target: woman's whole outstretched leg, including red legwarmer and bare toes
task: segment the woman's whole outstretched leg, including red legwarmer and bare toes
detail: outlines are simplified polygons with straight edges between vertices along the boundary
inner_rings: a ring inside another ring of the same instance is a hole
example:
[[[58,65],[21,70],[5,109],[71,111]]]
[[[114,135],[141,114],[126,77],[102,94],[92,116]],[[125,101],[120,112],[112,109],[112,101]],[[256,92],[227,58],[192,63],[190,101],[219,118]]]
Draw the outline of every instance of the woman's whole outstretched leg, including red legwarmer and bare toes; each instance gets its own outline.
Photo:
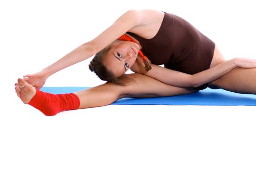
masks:
[[[80,102],[79,106],[77,106],[76,109],[108,105],[123,97],[146,98],[158,96],[173,96],[196,92],[196,90],[194,90],[193,88],[180,88],[166,85],[142,74],[130,74],[129,77],[130,78],[124,78],[123,81],[126,82],[126,85],[124,86],[115,85],[113,83],[106,83],[89,89],[81,90],[79,92],[75,92],[75,97],[78,97]],[[56,110],[51,113],[51,109],[56,109],[56,107],[59,107],[59,105],[61,105],[61,108],[62,106],[63,108],[65,108],[65,104],[70,105],[70,103],[71,105],[74,105],[72,103],[73,99],[76,100],[74,96],[72,98],[72,96],[70,95],[67,96],[68,99],[66,99],[66,97],[65,99],[63,99],[62,96],[60,96],[59,99],[58,95],[46,95],[46,93],[43,93],[41,91],[37,92],[32,85],[29,85],[22,79],[19,79],[18,83],[16,83],[15,86],[18,97],[20,97],[22,102],[28,104],[30,104],[31,101],[34,101],[35,97],[37,97],[36,94],[42,93],[42,96],[40,96],[39,99],[39,102],[42,102],[42,104],[40,104],[39,106],[32,106],[39,109],[41,112],[48,116],[53,116],[58,113]]]

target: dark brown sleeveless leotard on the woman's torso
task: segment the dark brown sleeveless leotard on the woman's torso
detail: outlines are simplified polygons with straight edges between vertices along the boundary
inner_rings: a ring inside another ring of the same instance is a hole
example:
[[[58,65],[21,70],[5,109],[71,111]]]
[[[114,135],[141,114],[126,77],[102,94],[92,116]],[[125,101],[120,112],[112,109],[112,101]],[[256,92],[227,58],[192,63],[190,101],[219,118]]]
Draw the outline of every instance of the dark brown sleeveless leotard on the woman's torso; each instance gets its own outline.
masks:
[[[139,41],[141,51],[153,64],[188,74],[210,68],[215,43],[181,17],[165,13],[158,33],[151,39],[127,34]]]

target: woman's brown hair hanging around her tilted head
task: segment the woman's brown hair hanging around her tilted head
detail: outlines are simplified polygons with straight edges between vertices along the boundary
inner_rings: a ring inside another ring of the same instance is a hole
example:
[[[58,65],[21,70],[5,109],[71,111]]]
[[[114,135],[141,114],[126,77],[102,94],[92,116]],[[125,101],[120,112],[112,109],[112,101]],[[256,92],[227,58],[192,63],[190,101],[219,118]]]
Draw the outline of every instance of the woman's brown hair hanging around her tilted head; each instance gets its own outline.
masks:
[[[91,71],[94,71],[95,74],[100,78],[100,80],[112,82],[116,85],[124,85],[124,82],[121,80],[123,77],[126,77],[125,74],[116,77],[112,71],[110,71],[104,64],[103,59],[105,55],[110,51],[112,48],[112,45],[107,46],[103,50],[99,51],[95,54],[94,58],[89,64],[89,68]],[[151,69],[151,66],[147,60],[144,60],[145,63],[145,70],[149,71]]]

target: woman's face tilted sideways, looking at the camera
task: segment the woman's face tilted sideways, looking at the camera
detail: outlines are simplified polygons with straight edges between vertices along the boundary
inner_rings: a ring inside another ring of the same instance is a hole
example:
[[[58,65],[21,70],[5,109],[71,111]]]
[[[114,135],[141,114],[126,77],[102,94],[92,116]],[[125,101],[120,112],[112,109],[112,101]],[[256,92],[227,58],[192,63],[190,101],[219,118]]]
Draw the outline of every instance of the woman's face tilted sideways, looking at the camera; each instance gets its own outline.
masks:
[[[114,42],[112,48],[105,56],[105,66],[119,77],[130,69],[138,56],[139,46],[130,41]]]

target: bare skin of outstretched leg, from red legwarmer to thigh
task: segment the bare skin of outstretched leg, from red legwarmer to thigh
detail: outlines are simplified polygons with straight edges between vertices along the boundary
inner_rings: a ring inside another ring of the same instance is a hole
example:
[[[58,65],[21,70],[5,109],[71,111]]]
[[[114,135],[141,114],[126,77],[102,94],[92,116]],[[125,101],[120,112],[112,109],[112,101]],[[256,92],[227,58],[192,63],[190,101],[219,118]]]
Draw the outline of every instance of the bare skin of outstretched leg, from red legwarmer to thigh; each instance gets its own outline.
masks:
[[[166,85],[142,74],[129,74],[129,76],[130,78],[125,78],[124,86],[106,83],[76,92],[80,99],[79,108],[104,106],[124,97],[163,97],[197,92],[193,88]]]

